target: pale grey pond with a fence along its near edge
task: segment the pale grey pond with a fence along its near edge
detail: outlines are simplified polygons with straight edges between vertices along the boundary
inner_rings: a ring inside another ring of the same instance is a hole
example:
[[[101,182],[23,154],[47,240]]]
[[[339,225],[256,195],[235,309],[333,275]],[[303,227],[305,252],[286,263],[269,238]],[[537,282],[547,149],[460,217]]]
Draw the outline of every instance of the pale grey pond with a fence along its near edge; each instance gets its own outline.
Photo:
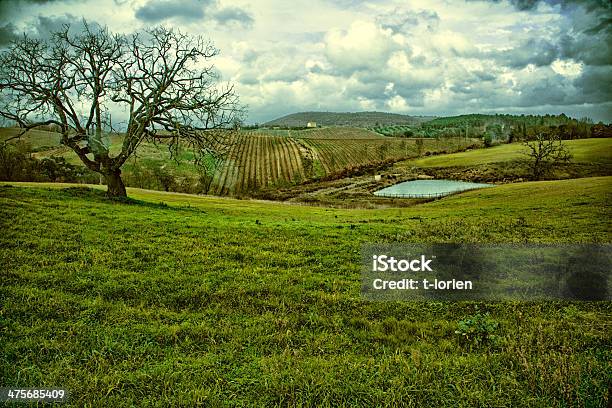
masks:
[[[469,183],[455,180],[412,180],[374,192],[378,197],[437,198],[459,191],[494,187],[493,184]]]

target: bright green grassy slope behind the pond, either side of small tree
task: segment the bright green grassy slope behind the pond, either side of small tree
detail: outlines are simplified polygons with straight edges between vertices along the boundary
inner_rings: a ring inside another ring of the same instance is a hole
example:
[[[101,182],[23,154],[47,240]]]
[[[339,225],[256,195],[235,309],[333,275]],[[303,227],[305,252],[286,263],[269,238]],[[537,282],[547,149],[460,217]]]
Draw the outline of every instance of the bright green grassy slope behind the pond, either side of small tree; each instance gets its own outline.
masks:
[[[612,139],[579,139],[564,141],[578,163],[612,163]],[[525,159],[522,143],[504,144],[488,149],[425,157],[406,162],[418,167],[477,166]]]

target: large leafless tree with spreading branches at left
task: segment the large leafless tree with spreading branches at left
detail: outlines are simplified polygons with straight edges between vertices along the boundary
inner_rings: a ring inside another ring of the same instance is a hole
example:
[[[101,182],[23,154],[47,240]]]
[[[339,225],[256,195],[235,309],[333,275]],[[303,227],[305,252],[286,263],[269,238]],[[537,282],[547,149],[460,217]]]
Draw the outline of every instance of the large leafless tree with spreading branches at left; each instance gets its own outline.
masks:
[[[219,86],[207,65],[218,54],[210,42],[167,28],[125,36],[83,25],[47,41],[24,35],[0,56],[0,115],[23,129],[16,137],[56,125],[111,197],[126,196],[121,167],[143,141],[175,159],[183,147],[196,163],[223,157],[243,111],[233,86]],[[123,141],[111,155],[103,130],[115,131],[110,113],[121,108]]]

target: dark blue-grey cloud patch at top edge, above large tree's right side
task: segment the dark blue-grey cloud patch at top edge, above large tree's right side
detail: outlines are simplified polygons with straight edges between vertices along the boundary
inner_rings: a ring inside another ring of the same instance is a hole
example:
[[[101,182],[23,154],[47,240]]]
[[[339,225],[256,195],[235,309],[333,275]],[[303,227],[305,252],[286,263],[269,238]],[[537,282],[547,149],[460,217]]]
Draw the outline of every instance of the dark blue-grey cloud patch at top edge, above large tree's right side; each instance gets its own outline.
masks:
[[[149,0],[136,10],[136,18],[149,23],[157,23],[168,18],[178,18],[184,21],[201,20],[204,18],[204,7],[209,0]]]

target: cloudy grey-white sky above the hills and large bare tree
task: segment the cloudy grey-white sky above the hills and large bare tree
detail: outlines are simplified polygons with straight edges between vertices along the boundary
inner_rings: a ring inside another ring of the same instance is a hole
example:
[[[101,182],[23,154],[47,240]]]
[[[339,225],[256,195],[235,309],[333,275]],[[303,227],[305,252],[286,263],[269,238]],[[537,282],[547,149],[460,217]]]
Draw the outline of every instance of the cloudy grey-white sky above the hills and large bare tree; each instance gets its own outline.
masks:
[[[83,17],[206,36],[249,123],[306,110],[612,122],[606,0],[0,0],[0,13],[0,47]]]

